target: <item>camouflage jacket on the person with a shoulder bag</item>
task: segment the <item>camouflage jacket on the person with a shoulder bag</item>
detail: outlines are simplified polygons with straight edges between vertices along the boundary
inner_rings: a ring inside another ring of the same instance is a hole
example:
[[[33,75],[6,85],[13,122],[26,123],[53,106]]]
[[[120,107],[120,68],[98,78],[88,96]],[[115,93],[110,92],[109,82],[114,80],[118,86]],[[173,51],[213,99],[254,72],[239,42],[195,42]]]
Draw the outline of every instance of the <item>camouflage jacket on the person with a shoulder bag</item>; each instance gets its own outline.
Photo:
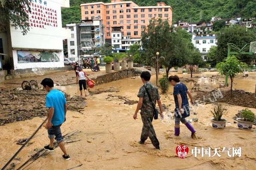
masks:
[[[150,104],[150,100],[148,97],[148,94],[145,91],[145,88],[147,88],[148,93],[151,95],[151,99],[153,100],[153,102],[156,104],[157,100],[160,99],[159,93],[158,93],[158,89],[156,86],[152,85],[150,82],[146,82],[141,88],[140,91],[138,93],[138,97],[143,97],[143,104],[141,107],[141,111],[140,114],[147,114],[148,116],[152,116],[153,115],[153,107]]]

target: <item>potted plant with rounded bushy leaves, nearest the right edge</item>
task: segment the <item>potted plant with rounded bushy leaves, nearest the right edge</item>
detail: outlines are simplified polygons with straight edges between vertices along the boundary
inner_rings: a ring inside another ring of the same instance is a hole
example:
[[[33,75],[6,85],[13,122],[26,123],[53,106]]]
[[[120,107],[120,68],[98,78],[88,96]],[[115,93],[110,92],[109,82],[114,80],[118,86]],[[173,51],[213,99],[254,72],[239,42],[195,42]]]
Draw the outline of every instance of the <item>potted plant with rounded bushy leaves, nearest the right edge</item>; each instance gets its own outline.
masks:
[[[237,119],[239,129],[252,129],[255,115],[249,109],[241,111],[241,119]]]

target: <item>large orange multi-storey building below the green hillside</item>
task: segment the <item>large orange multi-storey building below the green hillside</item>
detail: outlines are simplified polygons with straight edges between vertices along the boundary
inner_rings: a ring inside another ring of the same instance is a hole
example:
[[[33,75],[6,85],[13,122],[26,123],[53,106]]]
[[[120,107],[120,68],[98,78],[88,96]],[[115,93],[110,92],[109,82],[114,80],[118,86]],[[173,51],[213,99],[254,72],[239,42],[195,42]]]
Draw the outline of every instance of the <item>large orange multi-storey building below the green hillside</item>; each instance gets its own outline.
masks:
[[[165,3],[157,3],[157,6],[138,6],[132,1],[111,0],[111,3],[84,3],[80,6],[82,20],[102,20],[105,39],[111,42],[115,49],[127,49],[127,46],[122,45],[120,41],[113,42],[113,33],[121,33],[121,37],[128,36],[129,39],[137,40],[153,17],[168,19],[172,24],[172,8]]]

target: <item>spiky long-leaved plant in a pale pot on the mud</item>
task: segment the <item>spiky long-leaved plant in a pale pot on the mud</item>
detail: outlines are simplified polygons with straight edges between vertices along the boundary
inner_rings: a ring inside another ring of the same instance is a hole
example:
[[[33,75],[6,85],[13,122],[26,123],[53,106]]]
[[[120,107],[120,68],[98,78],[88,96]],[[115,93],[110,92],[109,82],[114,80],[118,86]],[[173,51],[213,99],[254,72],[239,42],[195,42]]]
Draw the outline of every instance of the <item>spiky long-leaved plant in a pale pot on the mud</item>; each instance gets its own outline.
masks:
[[[226,119],[221,119],[223,112],[224,112],[224,108],[222,105],[217,105],[212,112],[212,116],[213,118],[212,120],[212,127],[214,128],[221,128],[223,129],[224,127],[226,127]]]

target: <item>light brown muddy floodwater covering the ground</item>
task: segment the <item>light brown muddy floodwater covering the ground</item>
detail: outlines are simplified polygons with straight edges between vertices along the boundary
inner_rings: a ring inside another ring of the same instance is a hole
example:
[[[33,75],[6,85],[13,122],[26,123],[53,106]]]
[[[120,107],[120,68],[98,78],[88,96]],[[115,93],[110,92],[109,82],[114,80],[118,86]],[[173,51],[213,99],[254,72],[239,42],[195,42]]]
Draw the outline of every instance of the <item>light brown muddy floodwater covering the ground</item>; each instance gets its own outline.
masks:
[[[207,77],[216,75],[216,73],[195,74],[200,76],[196,81],[201,88],[213,89],[224,84],[224,77],[220,77],[218,82],[210,81]],[[189,78],[190,75],[180,75],[180,77]],[[152,76],[151,82],[155,83],[155,76]],[[192,82],[185,82],[189,89],[192,88]],[[249,77],[239,75],[234,79],[234,87],[244,91],[254,93],[256,84],[256,74],[250,73]],[[140,77],[122,79],[116,82],[110,82],[97,85],[93,90],[116,88],[119,92],[102,93],[93,96],[87,96],[87,107],[84,111],[67,112],[67,121],[61,126],[62,134],[78,130],[72,140],[66,144],[71,159],[64,160],[60,148],[47,156],[40,157],[35,162],[25,168],[29,170],[67,170],[82,164],[76,169],[81,170],[255,170],[256,169],[256,148],[254,147],[256,139],[256,129],[239,130],[237,123],[234,123],[233,117],[239,110],[244,109],[241,106],[225,105],[227,109],[223,118],[227,119],[224,129],[213,129],[210,119],[212,118],[211,109],[214,104],[201,106],[191,112],[188,119],[198,118],[197,122],[192,121],[192,125],[197,131],[197,138],[191,139],[190,131],[185,125],[180,125],[180,136],[174,136],[174,120],[161,122],[160,119],[154,120],[153,125],[160,142],[161,150],[156,150],[148,139],[144,145],[140,141],[142,121],[140,114],[138,119],[133,119],[136,104],[127,105],[123,100],[109,100],[108,95],[126,96],[131,100],[138,100],[137,93],[142,86]],[[67,85],[58,87],[70,95],[78,95],[77,85]],[[159,90],[160,91],[160,90]],[[194,94],[194,92],[193,92]],[[171,114],[174,110],[174,99],[172,96],[172,87],[167,94],[160,94],[162,103],[166,106],[165,116]],[[193,108],[193,107],[192,107]],[[255,108],[250,108],[256,113]],[[167,116],[168,117],[168,116]],[[11,158],[18,150],[20,145],[16,144],[18,139],[28,138],[35,129],[44,121],[45,117],[36,117],[31,120],[9,123],[0,126],[0,167]],[[30,155],[34,154],[35,149],[41,149],[48,144],[47,130],[41,128],[35,137],[29,142],[13,162],[19,167]],[[175,149],[177,145],[186,145],[189,147],[188,156],[185,159],[177,157]],[[200,148],[219,148],[241,147],[241,157],[229,157],[227,152],[221,152],[221,156],[202,156],[198,154],[195,157],[191,149]]]

